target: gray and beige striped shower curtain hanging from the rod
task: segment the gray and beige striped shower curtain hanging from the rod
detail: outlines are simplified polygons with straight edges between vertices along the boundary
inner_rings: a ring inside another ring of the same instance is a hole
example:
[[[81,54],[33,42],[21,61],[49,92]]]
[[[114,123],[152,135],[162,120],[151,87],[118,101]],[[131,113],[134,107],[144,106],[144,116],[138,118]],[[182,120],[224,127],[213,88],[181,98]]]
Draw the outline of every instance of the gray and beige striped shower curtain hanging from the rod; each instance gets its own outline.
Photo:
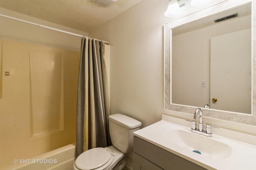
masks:
[[[76,156],[111,145],[104,43],[82,38],[76,113]]]

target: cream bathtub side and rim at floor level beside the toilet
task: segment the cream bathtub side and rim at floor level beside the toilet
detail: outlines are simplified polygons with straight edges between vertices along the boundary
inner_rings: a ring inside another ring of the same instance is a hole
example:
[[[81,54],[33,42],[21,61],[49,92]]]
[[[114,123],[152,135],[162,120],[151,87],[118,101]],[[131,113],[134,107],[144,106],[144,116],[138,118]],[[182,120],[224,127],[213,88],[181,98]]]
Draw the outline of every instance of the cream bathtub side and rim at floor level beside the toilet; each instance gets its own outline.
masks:
[[[72,170],[76,144],[46,152],[26,160],[14,160],[14,164],[4,170]]]

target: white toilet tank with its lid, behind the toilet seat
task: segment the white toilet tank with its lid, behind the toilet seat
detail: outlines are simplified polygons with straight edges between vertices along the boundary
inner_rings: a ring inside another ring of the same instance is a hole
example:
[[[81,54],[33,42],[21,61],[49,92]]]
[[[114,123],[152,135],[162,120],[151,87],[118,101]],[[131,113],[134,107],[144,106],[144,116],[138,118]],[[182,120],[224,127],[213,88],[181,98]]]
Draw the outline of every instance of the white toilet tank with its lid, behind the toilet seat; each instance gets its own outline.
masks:
[[[122,114],[108,117],[112,145],[123,153],[128,153],[133,147],[133,132],[138,131],[141,122]]]

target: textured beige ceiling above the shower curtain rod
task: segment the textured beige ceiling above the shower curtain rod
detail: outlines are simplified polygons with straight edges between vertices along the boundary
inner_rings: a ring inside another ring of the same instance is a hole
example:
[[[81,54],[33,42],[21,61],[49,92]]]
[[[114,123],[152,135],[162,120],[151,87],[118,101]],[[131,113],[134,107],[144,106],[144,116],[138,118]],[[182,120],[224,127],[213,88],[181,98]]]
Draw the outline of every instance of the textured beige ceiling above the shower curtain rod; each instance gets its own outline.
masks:
[[[0,7],[90,32],[142,0],[118,0],[103,7],[93,0],[0,0]]]

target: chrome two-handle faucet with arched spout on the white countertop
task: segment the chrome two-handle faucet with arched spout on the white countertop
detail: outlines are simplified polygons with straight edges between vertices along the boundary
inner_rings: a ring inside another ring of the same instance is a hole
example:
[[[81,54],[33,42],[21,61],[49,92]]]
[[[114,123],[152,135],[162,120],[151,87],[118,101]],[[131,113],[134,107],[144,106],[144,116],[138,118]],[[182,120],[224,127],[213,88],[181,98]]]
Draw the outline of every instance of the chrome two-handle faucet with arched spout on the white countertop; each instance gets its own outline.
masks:
[[[198,129],[196,129],[196,121],[192,121],[192,128],[191,131],[194,133],[198,133],[200,135],[212,137],[212,132],[211,132],[211,125],[206,124],[206,131],[203,130],[203,111],[200,108],[197,108],[195,113],[194,113],[194,119],[197,118],[199,114],[199,123],[198,123]]]

